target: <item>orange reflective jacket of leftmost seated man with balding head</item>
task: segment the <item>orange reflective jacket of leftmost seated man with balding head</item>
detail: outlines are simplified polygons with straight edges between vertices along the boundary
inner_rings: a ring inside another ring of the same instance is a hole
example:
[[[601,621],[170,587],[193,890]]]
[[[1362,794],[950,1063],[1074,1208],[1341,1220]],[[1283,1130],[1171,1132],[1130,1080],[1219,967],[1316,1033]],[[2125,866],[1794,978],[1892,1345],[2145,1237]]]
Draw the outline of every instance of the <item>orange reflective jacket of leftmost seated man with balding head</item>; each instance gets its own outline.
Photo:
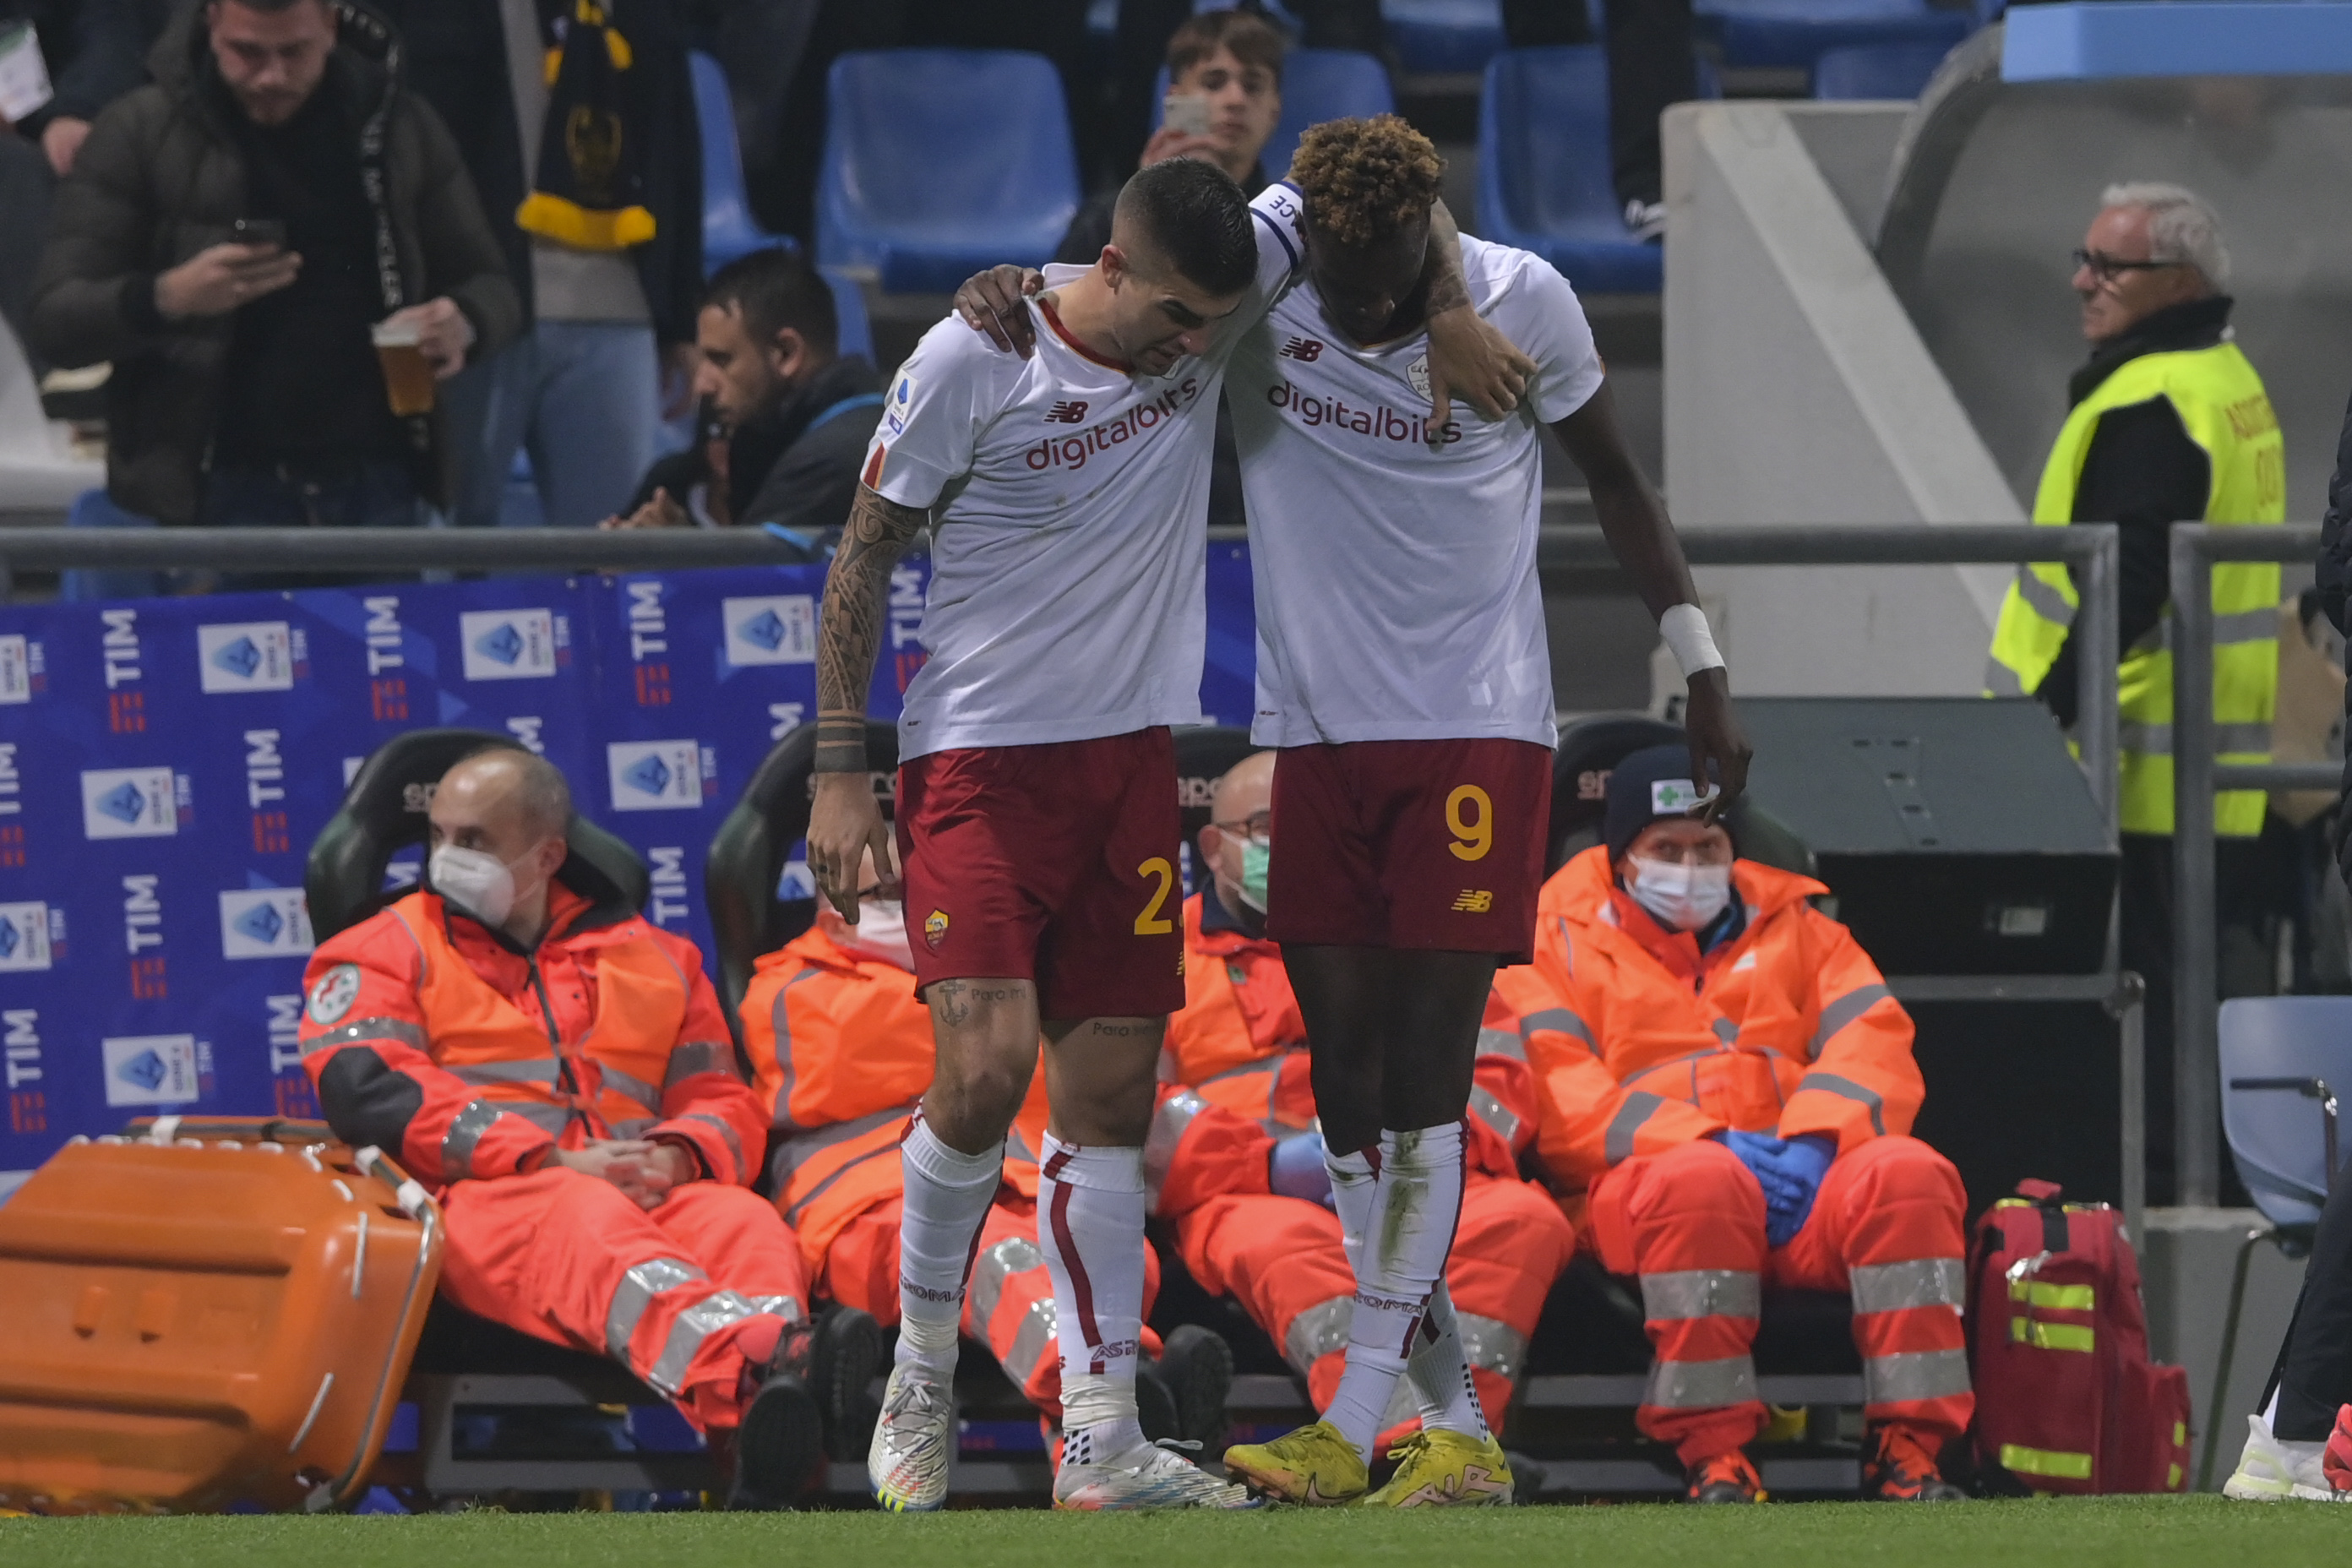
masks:
[[[536,952],[409,893],[310,954],[303,1067],[336,1135],[419,1180],[659,1138],[750,1185],[767,1138],[694,943],[555,884]]]

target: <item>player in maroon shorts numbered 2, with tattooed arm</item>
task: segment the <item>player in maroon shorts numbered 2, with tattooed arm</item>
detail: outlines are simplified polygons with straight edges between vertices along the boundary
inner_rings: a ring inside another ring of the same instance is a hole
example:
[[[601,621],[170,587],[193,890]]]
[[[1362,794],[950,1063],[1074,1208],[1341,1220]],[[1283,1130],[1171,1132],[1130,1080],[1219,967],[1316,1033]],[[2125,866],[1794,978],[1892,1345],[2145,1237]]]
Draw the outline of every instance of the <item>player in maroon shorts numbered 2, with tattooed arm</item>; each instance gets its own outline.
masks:
[[[1065,1509],[1247,1507],[1143,1439],[1143,1138],[1183,1006],[1171,724],[1200,722],[1204,515],[1218,388],[1296,280],[1289,188],[1221,169],[1136,174],[1091,268],[1007,310],[1037,355],[934,327],[868,449],[818,630],[809,870],[858,919],[858,865],[903,898],[936,1074],[898,1145],[901,1333],[868,1474],[889,1509],[946,1500],[950,1382],[974,1241],[1040,1058],[1049,1124],[1037,1244],[1061,1340]],[[1432,247],[1432,287],[1458,263]],[[1002,322],[997,322],[1002,331]],[[1489,395],[1512,350],[1472,310],[1435,324],[1437,376]],[[866,759],[866,689],[898,552],[934,527],[898,722],[896,842]]]

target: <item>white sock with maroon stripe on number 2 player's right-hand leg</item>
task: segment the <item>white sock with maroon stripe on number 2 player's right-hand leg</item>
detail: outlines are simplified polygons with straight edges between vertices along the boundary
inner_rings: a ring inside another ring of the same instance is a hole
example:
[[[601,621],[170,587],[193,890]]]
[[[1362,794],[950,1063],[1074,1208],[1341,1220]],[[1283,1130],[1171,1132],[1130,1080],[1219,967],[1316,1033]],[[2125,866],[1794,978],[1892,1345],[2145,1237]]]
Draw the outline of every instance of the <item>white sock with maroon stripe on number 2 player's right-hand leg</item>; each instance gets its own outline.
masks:
[[[1143,1441],[1143,1150],[1080,1147],[1047,1133],[1037,1248],[1054,1276],[1063,1465],[1117,1458]]]

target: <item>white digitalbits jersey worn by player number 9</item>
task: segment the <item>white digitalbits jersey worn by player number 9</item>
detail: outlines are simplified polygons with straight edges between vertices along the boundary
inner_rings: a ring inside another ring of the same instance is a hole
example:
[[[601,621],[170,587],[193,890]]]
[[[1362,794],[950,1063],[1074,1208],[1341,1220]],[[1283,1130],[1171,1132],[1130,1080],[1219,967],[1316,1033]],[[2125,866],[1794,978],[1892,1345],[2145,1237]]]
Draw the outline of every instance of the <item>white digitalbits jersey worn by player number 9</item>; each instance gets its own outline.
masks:
[[[1456,397],[1435,451],[1425,331],[1357,348],[1301,282],[1235,350],[1258,745],[1559,738],[1536,423],[1581,409],[1602,360],[1576,292],[1541,256],[1463,237],[1463,280],[1536,381],[1501,421]]]

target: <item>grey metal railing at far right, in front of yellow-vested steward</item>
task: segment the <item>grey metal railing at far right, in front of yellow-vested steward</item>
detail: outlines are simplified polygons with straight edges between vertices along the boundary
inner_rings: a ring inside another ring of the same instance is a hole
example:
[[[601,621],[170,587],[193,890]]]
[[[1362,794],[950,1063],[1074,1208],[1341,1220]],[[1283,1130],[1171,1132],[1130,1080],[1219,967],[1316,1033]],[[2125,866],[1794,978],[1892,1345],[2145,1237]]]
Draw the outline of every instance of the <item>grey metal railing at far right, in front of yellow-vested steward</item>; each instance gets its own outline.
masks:
[[[2213,889],[2218,790],[2343,788],[2340,762],[2220,762],[2213,726],[2213,567],[2310,562],[2307,524],[2176,524],[2173,590],[2173,1168],[2180,1201],[2220,1201],[2220,940]],[[2267,750],[2267,748],[2265,748]]]

